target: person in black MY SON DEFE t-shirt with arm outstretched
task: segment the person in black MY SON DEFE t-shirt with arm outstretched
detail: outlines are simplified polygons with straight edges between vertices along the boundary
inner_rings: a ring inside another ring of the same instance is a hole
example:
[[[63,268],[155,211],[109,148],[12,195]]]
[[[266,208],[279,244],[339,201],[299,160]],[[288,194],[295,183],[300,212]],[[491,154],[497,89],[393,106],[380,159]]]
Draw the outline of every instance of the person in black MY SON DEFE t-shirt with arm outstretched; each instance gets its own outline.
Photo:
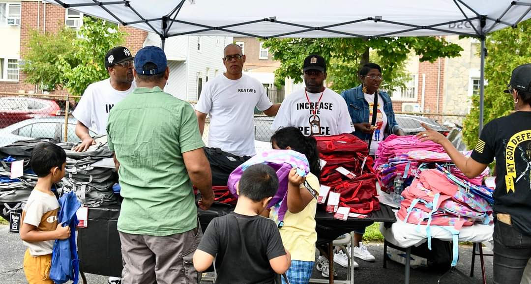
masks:
[[[516,111],[485,125],[470,158],[425,125],[417,136],[441,144],[468,177],[496,160],[494,283],[518,284],[531,259],[531,64],[516,67],[508,87]]]

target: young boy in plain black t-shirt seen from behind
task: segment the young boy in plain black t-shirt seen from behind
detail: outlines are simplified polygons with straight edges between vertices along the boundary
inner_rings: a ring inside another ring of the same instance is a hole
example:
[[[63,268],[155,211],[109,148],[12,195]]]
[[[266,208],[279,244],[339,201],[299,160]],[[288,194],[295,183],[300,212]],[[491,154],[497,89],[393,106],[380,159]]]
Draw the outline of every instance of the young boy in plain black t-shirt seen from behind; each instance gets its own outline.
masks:
[[[285,273],[291,256],[275,222],[260,216],[277,189],[271,167],[247,168],[234,212],[210,222],[193,256],[195,269],[207,270],[216,258],[216,283],[274,283],[276,273]]]

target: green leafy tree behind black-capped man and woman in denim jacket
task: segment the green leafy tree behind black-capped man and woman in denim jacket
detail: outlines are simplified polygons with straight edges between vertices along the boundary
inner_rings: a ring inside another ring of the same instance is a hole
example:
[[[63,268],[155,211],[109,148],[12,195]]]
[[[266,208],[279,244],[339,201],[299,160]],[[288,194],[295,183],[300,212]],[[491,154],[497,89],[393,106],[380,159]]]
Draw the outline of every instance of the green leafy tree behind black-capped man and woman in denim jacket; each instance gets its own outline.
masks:
[[[421,62],[434,62],[439,57],[459,56],[463,49],[444,38],[435,37],[395,37],[395,38],[288,38],[264,41],[273,54],[273,59],[281,62],[275,72],[277,85],[284,84],[284,78],[301,82],[304,58],[310,54],[320,54],[327,61],[328,81],[337,92],[358,84],[357,71],[361,62],[369,60],[372,50],[375,62],[382,66],[384,83],[382,88],[393,90],[404,85],[407,72],[404,63],[412,51],[421,56]]]

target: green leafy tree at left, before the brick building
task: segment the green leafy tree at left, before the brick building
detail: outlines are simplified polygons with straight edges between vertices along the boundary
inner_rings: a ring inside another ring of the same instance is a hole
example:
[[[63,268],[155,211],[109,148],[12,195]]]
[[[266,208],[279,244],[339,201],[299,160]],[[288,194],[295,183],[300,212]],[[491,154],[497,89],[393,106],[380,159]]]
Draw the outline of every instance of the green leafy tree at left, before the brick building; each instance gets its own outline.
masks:
[[[89,84],[108,78],[105,54],[120,45],[124,35],[116,24],[88,16],[77,33],[69,28],[44,35],[33,31],[23,56],[27,81],[81,95]]]

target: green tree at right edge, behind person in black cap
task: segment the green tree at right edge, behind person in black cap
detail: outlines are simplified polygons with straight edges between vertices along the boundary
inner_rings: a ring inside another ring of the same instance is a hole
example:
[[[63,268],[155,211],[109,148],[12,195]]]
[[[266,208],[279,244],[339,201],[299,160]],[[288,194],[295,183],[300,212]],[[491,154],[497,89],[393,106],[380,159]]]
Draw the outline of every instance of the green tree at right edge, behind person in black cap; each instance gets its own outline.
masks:
[[[502,29],[491,33],[485,47],[484,123],[514,110],[512,97],[504,93],[511,80],[511,71],[518,65],[531,62],[531,21],[518,24],[514,29]],[[463,137],[467,147],[475,147],[479,133],[479,94],[472,96],[472,109],[463,123]]]

